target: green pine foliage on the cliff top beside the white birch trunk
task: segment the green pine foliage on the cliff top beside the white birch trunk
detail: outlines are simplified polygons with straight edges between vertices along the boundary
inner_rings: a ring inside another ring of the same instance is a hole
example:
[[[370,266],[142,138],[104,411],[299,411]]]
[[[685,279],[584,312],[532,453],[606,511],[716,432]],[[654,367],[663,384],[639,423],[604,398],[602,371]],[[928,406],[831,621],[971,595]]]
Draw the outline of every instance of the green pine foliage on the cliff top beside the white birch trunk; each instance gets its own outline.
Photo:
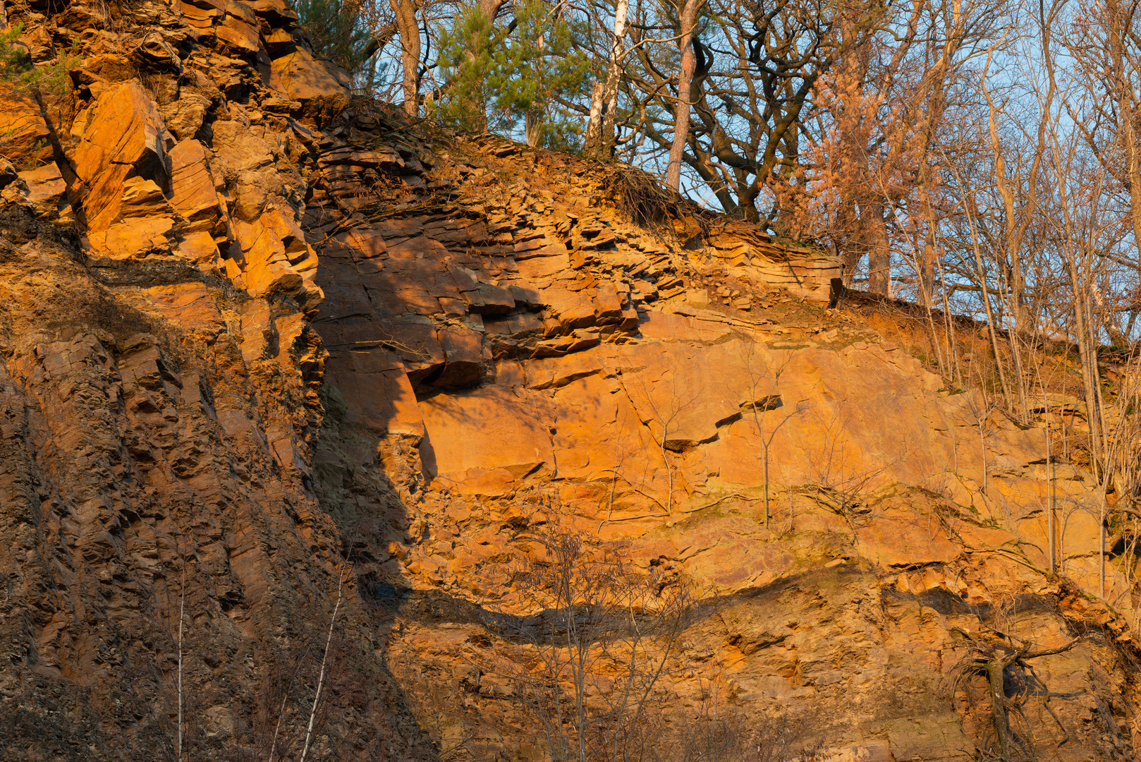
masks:
[[[544,0],[527,0],[510,26],[470,6],[440,33],[443,97],[432,115],[466,129],[521,133],[531,145],[575,149],[581,128],[560,102],[586,87],[589,62],[577,24]],[[432,106],[430,106],[432,107]]]

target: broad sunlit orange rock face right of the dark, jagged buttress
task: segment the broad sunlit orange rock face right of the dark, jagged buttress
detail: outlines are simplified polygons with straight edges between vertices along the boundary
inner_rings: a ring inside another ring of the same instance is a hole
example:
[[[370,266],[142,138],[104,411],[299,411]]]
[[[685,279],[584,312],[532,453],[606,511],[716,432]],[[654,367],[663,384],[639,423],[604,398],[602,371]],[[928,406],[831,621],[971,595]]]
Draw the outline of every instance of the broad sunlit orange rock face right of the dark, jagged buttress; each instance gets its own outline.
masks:
[[[955,631],[1012,627],[1057,647],[1097,621],[1103,634],[1035,665],[1067,698],[1028,701],[1020,721],[1054,745],[1059,728],[1087,732],[1059,759],[1125,738],[1077,729],[1099,706],[1134,711],[1131,583],[1109,570],[1117,612],[1079,592],[1098,588],[1095,526],[1061,540],[1069,579],[1045,573],[1042,428],[992,417],[980,439],[977,392],[952,393],[858,319],[774,289],[761,268],[637,228],[569,160],[536,157],[531,170],[518,149],[460,138],[436,151],[446,159],[432,157],[424,186],[451,206],[434,216],[398,216],[424,198],[411,192],[343,203],[337,219],[309,212],[330,235],[314,324],[345,400],[339,431],[381,452],[418,446],[400,492],[412,539],[359,570],[412,599],[521,615],[513,560],[543,531],[621,546],[721,596],[662,679],[671,727],[715,688],[753,725],[791,715],[836,760],[969,759],[989,731],[972,698],[981,683],[956,682],[970,649]],[[505,190],[483,190],[470,169],[482,166]],[[489,313],[484,284],[515,304]],[[456,348],[454,336],[470,338]],[[351,468],[335,447],[317,457]],[[1063,470],[1055,499],[1089,522],[1093,480]],[[375,511],[364,490],[335,495],[354,515]],[[488,633],[486,617],[403,610],[389,657],[413,703],[462,728],[474,759],[536,753],[503,666],[534,663],[534,649]],[[1090,677],[1102,674],[1118,676]]]

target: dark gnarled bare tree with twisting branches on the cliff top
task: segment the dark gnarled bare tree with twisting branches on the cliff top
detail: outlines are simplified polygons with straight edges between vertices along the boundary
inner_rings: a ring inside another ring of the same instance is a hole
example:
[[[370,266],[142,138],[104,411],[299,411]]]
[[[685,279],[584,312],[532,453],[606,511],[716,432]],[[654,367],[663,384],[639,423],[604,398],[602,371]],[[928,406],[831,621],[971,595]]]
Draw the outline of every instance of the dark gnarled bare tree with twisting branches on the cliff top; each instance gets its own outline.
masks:
[[[648,146],[667,154],[680,149],[677,138],[685,135],[679,173],[683,163],[726,212],[759,222],[763,217],[758,204],[774,173],[787,176],[796,168],[801,118],[817,78],[835,59],[842,11],[818,0],[780,0],[766,7],[709,0],[707,8],[707,22],[695,25],[689,45],[694,75],[687,99],[693,119],[689,110],[678,112],[686,94],[671,96],[673,78],[662,71],[655,46],[645,45],[663,26],[631,27],[638,46],[638,65],[630,67],[624,82],[636,104],[631,128]],[[686,30],[677,32],[683,35]],[[687,120],[685,130],[675,123],[677,113]]]

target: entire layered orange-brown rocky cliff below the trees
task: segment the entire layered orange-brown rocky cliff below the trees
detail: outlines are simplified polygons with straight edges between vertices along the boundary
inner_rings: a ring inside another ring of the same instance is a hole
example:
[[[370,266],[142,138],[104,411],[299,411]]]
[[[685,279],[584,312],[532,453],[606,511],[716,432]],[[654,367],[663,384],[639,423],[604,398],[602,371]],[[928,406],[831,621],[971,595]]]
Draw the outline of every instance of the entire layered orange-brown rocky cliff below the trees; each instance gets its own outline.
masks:
[[[355,102],[282,0],[7,10],[81,59],[0,96],[42,162],[0,175],[6,759],[296,759],[318,680],[314,759],[543,759],[494,621],[552,528],[704,596],[663,737],[715,695],[971,759],[963,666],[1081,636],[1009,671],[1017,732],[1133,759],[1093,479],[827,308],[826,257]]]

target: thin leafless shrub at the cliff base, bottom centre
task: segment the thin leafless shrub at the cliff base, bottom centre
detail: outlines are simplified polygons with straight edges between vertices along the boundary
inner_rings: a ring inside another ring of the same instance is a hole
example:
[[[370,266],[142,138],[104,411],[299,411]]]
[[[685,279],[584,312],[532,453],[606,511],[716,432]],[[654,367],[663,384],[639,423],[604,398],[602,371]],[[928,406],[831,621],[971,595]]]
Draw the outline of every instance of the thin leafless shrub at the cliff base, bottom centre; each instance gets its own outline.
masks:
[[[690,586],[647,576],[566,530],[535,540],[545,555],[516,579],[536,612],[502,625],[502,634],[529,644],[534,663],[502,676],[552,760],[631,759],[694,616]]]

